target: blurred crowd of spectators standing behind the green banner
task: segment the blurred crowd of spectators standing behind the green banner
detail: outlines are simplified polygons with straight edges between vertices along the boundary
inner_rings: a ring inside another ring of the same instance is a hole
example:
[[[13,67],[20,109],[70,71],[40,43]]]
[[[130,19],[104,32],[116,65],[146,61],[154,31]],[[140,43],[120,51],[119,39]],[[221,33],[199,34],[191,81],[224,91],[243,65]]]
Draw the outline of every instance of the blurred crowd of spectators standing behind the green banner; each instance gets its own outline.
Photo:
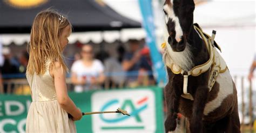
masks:
[[[80,51],[74,54],[70,65],[70,89],[79,93],[103,88],[155,84],[149,48],[140,41],[129,40],[129,48],[125,49],[120,45],[116,52],[118,57],[111,56],[110,51],[104,50],[96,54],[93,45],[83,45]],[[22,51],[17,57],[13,57],[11,49],[4,47],[2,58],[1,83],[6,93],[5,80],[25,78],[29,54]],[[11,89],[15,89],[14,85],[11,85]]]

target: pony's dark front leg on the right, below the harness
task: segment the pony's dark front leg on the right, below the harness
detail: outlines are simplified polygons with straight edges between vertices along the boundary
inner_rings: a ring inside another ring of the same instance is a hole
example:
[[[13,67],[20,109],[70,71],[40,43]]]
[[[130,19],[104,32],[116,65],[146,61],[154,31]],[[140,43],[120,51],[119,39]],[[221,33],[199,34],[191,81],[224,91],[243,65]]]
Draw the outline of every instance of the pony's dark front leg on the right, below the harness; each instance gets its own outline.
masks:
[[[199,86],[194,97],[194,104],[192,109],[192,116],[190,119],[190,132],[199,133],[203,132],[203,113],[208,98],[208,87]]]

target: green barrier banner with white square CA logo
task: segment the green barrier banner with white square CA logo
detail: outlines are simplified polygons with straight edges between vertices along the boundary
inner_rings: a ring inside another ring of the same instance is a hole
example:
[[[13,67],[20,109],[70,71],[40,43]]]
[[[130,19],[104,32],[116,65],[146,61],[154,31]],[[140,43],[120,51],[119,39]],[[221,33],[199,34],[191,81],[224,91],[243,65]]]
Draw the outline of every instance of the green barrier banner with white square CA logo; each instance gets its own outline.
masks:
[[[127,110],[122,114],[85,115],[77,132],[164,132],[163,90],[159,87],[119,88],[69,95],[82,112]],[[0,132],[24,132],[30,95],[0,95]]]

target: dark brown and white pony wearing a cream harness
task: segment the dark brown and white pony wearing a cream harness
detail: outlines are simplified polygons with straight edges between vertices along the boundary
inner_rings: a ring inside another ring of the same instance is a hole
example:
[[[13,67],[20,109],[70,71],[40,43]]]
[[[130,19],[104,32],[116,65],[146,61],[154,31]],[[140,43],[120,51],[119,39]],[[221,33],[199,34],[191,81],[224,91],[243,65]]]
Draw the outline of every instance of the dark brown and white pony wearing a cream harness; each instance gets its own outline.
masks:
[[[213,36],[193,24],[193,0],[166,0],[166,38],[163,60],[165,131],[177,127],[177,113],[186,117],[187,132],[240,132],[237,91],[219,55]]]

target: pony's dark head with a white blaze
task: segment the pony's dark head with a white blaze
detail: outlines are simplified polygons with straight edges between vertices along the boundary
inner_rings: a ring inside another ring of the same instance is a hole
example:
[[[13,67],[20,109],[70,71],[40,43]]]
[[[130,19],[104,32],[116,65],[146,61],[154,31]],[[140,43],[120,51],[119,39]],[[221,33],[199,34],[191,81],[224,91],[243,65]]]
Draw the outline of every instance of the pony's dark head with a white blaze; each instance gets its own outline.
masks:
[[[193,0],[166,0],[164,3],[167,42],[173,51],[186,48],[188,35],[193,26]]]

